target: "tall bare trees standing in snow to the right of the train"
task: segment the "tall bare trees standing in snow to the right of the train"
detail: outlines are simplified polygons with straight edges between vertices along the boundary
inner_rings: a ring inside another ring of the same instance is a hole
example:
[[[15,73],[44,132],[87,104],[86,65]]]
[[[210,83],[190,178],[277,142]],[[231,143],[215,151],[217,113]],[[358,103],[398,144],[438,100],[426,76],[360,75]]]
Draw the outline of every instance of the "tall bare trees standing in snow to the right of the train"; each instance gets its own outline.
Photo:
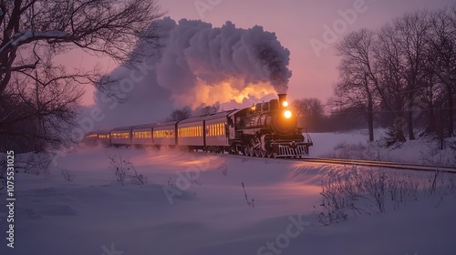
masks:
[[[370,141],[375,123],[388,127],[387,145],[455,136],[456,5],[360,29],[336,48],[341,61],[330,106],[363,112]]]

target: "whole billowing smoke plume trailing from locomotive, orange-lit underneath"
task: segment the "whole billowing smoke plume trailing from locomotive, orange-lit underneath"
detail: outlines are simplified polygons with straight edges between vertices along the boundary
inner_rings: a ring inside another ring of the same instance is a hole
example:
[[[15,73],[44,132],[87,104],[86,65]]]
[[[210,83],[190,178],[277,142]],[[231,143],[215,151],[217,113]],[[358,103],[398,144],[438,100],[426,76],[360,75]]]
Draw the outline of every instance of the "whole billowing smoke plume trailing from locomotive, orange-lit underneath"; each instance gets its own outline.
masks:
[[[108,119],[131,117],[134,112],[142,115],[138,123],[145,123],[163,119],[175,107],[241,103],[286,93],[292,75],[287,67],[290,52],[262,26],[243,29],[227,21],[222,27],[212,27],[200,20],[176,23],[170,17],[158,26],[162,47],[150,48],[153,56],[146,59],[153,67],[128,93],[128,102],[104,110]],[[111,75],[129,76],[130,72],[119,67]],[[107,109],[102,94],[97,92],[95,97],[96,105]]]

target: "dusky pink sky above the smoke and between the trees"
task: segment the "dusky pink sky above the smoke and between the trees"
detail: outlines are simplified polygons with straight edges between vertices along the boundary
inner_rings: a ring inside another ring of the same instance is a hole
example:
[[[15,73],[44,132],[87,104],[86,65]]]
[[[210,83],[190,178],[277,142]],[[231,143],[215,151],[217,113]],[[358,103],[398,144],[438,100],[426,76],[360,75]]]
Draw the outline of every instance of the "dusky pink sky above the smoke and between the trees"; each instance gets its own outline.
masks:
[[[159,1],[162,9],[168,11],[167,15],[175,20],[202,19],[213,26],[222,26],[230,20],[237,27],[259,25],[266,31],[275,32],[281,44],[291,52],[289,68],[293,71],[293,76],[289,83],[289,99],[317,97],[324,103],[332,96],[332,87],[337,82],[339,58],[336,56],[333,41],[363,27],[377,29],[392,18],[407,12],[423,8],[436,9],[453,3],[454,0]],[[344,20],[341,13],[347,14],[348,19]],[[336,26],[336,29],[333,29],[333,26]],[[330,32],[327,32],[327,27],[331,27],[334,33],[332,38],[328,37]],[[328,37],[326,40],[325,36]],[[327,48],[315,50],[311,42],[325,43]],[[112,61],[93,56],[78,56],[76,53],[70,56],[72,65],[97,61],[107,70],[115,66]],[[93,102],[93,88],[86,89],[84,104],[89,105]]]

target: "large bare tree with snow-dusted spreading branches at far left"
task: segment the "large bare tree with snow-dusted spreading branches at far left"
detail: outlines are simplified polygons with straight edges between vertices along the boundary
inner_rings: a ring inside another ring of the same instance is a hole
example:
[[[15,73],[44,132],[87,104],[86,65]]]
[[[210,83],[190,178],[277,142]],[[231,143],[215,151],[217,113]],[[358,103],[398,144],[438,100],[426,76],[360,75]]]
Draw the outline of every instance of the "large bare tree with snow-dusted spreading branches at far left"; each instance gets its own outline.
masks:
[[[154,21],[162,15],[154,0],[0,1],[2,140],[38,139],[41,149],[68,141],[63,136],[74,124],[78,85],[109,92],[112,81],[100,79],[98,66],[68,72],[55,56],[79,48],[132,66],[145,54],[131,52],[133,46],[158,46]]]

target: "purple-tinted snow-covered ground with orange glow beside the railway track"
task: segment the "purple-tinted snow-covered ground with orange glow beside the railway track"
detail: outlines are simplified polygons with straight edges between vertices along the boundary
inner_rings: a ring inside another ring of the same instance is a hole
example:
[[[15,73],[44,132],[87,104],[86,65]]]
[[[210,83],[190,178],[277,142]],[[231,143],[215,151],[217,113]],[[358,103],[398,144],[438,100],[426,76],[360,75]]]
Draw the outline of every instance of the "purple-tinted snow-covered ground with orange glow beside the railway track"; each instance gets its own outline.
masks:
[[[366,140],[363,133],[313,138],[311,157],[332,153],[345,140]],[[147,184],[122,186],[108,156],[133,163]],[[3,206],[0,254],[456,254],[454,193],[426,196],[423,190],[397,207],[387,204],[384,213],[370,208],[369,215],[348,213],[347,220],[322,224],[322,177],[335,169],[344,167],[80,148],[59,158],[47,177],[16,174],[15,248],[6,247]],[[432,177],[401,174],[423,182]]]

